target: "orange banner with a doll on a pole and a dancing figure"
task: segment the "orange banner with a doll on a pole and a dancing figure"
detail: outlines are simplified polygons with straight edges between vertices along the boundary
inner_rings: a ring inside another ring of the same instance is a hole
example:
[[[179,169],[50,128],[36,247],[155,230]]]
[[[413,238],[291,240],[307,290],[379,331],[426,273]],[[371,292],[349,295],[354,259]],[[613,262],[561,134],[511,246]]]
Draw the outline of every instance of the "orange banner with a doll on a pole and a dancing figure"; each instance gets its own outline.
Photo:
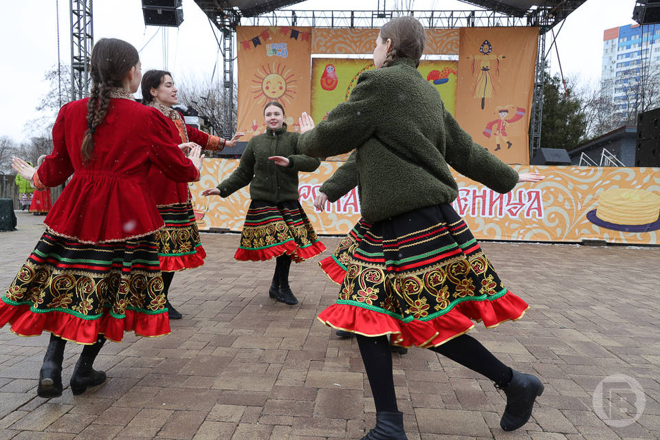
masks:
[[[529,164],[538,28],[461,28],[456,120],[507,164]]]

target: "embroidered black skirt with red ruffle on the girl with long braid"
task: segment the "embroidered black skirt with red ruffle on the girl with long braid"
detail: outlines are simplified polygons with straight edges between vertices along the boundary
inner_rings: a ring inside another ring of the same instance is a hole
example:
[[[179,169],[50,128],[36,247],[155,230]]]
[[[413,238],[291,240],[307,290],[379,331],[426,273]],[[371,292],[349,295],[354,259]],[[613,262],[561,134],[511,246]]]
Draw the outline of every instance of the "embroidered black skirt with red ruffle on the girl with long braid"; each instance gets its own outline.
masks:
[[[90,244],[47,230],[0,300],[7,323],[21,336],[50,331],[81,344],[170,333],[153,234]]]

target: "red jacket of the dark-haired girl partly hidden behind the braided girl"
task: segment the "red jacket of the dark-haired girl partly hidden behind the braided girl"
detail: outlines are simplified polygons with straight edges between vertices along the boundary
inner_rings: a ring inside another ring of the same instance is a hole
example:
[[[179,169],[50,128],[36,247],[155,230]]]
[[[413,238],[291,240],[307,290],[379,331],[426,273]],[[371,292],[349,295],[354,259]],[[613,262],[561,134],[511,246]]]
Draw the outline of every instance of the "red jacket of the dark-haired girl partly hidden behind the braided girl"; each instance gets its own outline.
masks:
[[[165,118],[167,117],[165,116]],[[205,150],[221,150],[224,147],[224,143],[219,137],[204,133],[195,129],[195,127],[185,124],[183,115],[181,115],[180,120],[171,121],[173,122],[173,130],[177,133],[177,142],[179,143],[195,142],[195,144],[201,145],[201,148]],[[169,179],[159,168],[152,167],[149,170],[148,182],[157,206],[186,203],[190,199],[188,184]]]

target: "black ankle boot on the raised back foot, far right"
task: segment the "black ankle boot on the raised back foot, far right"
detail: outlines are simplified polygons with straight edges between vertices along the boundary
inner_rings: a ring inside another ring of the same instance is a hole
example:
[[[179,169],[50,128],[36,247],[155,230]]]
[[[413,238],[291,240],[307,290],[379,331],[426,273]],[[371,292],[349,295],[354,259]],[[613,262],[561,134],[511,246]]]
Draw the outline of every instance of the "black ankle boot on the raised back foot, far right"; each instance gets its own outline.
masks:
[[[538,377],[513,371],[511,382],[501,388],[507,395],[507,406],[500,420],[500,427],[513,431],[527,423],[534,407],[534,399],[543,393],[544,386]]]

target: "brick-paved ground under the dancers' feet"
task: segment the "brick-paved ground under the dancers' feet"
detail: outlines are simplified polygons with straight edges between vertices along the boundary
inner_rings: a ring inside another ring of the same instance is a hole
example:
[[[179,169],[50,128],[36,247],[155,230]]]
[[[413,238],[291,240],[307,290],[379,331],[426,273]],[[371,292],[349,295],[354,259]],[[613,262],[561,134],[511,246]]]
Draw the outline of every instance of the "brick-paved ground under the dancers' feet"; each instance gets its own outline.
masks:
[[[20,230],[0,233],[0,285],[9,285],[36,243],[43,217],[17,212]],[[354,340],[314,317],[337,287],[316,261],[292,266],[300,305],[267,298],[274,263],[239,263],[236,234],[203,234],[207,263],[174,278],[184,319],[163,338],[127,335],[103,348],[109,380],[85,395],[36,397],[48,336],[0,330],[3,439],[360,439],[374,423],[373,400]],[[329,249],[336,238],[323,240]],[[660,249],[484,243],[509,289],[531,305],[525,319],[471,333],[545,393],[516,432],[499,428],[505,401],[483,377],[434,353],[395,355],[395,384],[410,440],[610,440],[660,438]],[[80,347],[69,344],[68,384]],[[634,377],[645,405],[626,384]],[[617,393],[617,388],[624,388]],[[600,412],[603,415],[603,412]],[[602,417],[605,417],[604,415]]]

